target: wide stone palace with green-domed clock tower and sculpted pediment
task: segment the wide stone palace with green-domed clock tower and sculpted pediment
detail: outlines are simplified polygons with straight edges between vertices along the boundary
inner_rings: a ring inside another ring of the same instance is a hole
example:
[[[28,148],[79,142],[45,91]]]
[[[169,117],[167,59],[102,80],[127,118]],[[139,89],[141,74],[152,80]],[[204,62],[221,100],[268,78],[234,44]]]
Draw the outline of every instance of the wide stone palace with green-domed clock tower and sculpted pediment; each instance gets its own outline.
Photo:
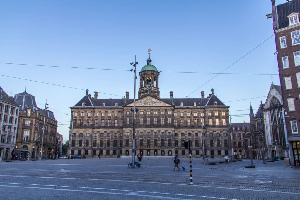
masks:
[[[214,95],[199,98],[160,98],[158,69],[147,59],[141,68],[136,107],[136,154],[144,156],[188,157],[181,144],[190,141],[193,156],[231,155],[228,108]],[[201,103],[202,102],[202,103]],[[203,107],[202,107],[203,105]],[[132,155],[134,99],[102,99],[86,90],[85,96],[71,108],[70,156],[87,158]],[[203,124],[202,124],[203,122]],[[203,126],[202,126],[203,125]]]

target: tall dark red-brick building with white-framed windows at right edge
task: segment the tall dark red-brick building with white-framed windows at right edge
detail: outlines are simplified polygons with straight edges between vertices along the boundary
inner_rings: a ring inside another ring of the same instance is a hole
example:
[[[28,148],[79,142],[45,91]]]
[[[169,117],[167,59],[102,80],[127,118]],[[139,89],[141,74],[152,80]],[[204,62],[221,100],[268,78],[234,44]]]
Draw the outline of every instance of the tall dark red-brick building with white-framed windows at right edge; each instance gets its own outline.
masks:
[[[291,164],[300,166],[300,0],[275,5],[272,2],[278,69],[286,120]]]

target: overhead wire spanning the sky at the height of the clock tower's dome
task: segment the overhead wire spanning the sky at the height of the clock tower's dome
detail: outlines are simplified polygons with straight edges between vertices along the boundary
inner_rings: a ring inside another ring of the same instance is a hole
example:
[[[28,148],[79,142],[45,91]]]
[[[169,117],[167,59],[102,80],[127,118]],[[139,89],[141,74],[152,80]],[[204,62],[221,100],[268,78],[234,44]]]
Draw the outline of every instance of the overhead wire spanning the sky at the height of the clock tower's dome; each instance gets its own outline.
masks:
[[[58,67],[58,68],[75,68],[75,69],[95,69],[95,70],[113,70],[113,71],[130,71],[126,69],[108,69],[108,68],[88,68],[88,67],[67,67],[67,66],[55,66],[55,65],[35,65],[35,64],[24,64],[24,63],[10,63],[0,62],[0,64],[8,65],[30,65],[30,66],[41,66],[41,67]],[[139,71],[139,70],[137,70]],[[185,74],[232,74],[232,75],[278,75],[278,74],[257,74],[257,73],[217,73],[217,72],[187,72],[187,71],[161,71],[164,73],[185,73]]]

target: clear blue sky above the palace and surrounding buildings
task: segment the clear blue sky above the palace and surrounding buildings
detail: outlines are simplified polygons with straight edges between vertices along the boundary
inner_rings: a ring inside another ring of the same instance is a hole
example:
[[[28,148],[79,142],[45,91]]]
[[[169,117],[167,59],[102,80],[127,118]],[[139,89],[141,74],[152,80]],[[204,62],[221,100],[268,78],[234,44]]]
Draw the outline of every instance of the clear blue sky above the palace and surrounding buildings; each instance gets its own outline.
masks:
[[[285,2],[277,0],[276,5]],[[58,124],[70,124],[70,107],[85,89],[99,92],[98,98],[122,98],[126,91],[133,98],[130,62],[136,55],[140,70],[151,48],[152,64],[163,71],[161,98],[170,91],[175,98],[197,98],[202,90],[206,97],[214,88],[230,106],[232,123],[249,122],[250,103],[256,113],[271,77],[280,85],[274,36],[229,65],[274,34],[272,19],[266,19],[271,12],[271,0],[2,1],[0,62],[127,71],[0,64],[0,85],[8,95],[23,92],[27,85],[40,108],[47,99]],[[220,74],[206,83],[216,74],[170,72],[219,73],[227,67],[224,73],[276,75]],[[254,99],[235,101],[247,98]],[[241,114],[246,116],[235,116]],[[68,125],[58,131],[64,141],[69,139]]]

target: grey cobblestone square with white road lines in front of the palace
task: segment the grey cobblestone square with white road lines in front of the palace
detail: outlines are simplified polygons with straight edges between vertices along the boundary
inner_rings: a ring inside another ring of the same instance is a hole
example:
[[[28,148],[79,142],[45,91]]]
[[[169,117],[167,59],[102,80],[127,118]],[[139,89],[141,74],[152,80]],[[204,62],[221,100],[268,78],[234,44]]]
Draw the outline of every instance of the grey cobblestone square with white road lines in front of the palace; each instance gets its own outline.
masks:
[[[283,161],[204,165],[188,158],[65,159],[0,163],[1,199],[300,199],[300,169]],[[214,161],[211,159],[210,161]],[[218,161],[218,160],[215,160]]]

